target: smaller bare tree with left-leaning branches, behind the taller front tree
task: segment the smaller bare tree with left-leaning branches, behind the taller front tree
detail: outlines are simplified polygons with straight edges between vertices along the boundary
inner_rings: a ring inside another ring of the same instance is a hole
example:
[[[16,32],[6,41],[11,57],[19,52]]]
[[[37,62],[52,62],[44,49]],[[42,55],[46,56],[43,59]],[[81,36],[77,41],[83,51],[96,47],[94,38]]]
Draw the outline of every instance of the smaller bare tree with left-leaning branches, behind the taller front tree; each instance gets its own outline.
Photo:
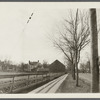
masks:
[[[65,60],[68,63],[68,65],[70,65],[71,67],[71,72],[72,72],[72,77],[75,80],[75,63],[74,63],[74,59],[75,59],[75,53],[73,52],[73,50],[69,47],[67,47],[61,40],[58,40],[59,43],[57,42],[57,40],[53,40],[54,46],[59,49],[64,55],[65,55]]]

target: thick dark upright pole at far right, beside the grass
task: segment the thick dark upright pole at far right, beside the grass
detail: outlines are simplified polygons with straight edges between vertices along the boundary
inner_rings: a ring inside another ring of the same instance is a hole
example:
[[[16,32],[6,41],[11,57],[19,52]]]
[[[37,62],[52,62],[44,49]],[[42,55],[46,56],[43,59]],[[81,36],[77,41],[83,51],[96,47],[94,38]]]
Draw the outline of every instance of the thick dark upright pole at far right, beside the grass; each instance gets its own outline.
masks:
[[[98,34],[96,9],[90,9],[91,22],[91,69],[92,69],[92,88],[91,92],[99,92],[99,66],[98,66]]]

